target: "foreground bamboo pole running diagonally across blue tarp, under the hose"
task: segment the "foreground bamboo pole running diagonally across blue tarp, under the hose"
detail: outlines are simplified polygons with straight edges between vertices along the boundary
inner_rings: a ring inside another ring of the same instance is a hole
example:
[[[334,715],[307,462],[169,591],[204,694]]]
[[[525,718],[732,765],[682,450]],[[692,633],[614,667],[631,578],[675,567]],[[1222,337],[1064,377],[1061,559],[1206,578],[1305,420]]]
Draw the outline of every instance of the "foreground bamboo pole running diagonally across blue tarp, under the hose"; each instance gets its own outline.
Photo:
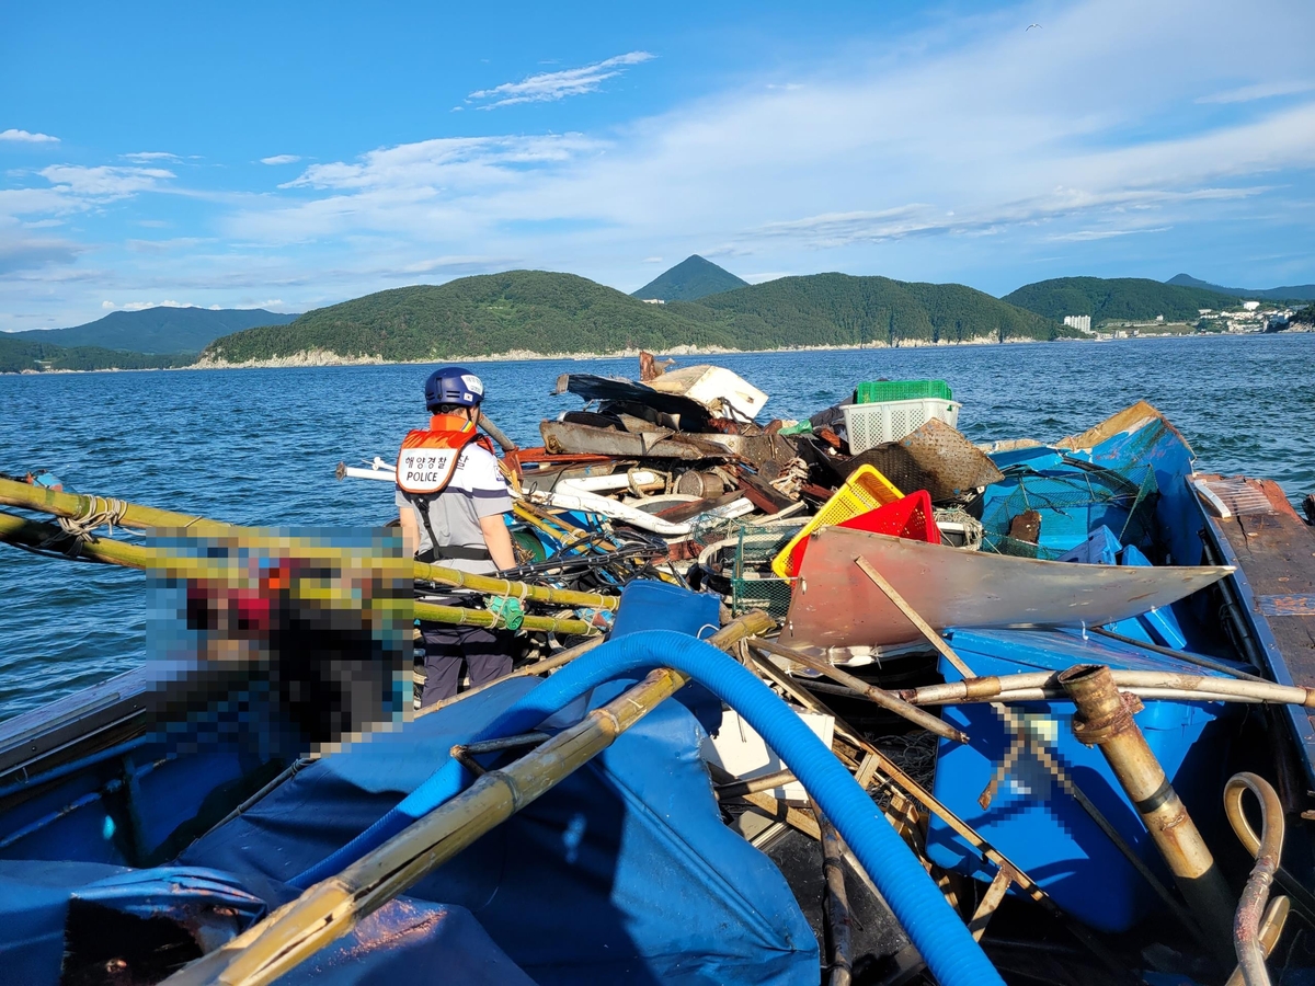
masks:
[[[767,614],[750,613],[722,627],[709,643],[725,649],[750,634],[764,632],[771,624]],[[581,722],[515,763],[488,772],[377,849],[309,887],[296,901],[164,982],[170,986],[263,986],[274,982],[550,791],[688,681],[688,676],[671,668],[655,669]]]

